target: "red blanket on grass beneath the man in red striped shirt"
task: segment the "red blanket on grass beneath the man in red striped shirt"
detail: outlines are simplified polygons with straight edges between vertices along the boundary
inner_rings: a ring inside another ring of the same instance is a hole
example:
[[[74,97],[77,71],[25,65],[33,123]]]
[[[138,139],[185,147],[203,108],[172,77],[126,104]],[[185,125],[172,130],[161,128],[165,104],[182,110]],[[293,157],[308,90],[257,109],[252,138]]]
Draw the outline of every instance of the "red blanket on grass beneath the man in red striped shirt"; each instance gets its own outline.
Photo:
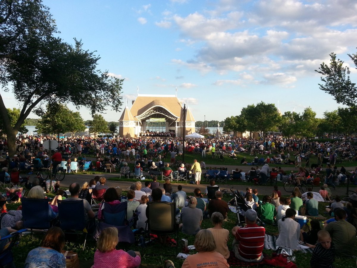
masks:
[[[243,262],[240,259],[237,259],[234,255],[234,252],[230,252],[230,256],[227,259],[227,262],[229,265],[232,266],[255,266],[255,265],[261,265],[261,264],[268,264],[271,266],[278,266],[278,267],[286,267],[286,268],[296,268],[296,264],[293,262],[287,262],[287,259],[282,256],[282,255],[277,255],[277,256],[268,256],[264,255],[264,258],[261,262]]]

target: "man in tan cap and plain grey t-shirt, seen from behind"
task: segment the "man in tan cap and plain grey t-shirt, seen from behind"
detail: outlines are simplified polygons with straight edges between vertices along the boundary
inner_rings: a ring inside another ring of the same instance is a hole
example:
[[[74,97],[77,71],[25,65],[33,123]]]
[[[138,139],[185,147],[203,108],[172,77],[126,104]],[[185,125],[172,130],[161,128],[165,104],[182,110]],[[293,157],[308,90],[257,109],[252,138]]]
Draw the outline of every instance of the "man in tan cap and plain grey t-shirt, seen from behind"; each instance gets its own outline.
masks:
[[[201,223],[203,219],[202,210],[196,208],[197,199],[191,197],[188,200],[188,207],[183,207],[181,209],[181,220],[180,228],[182,227],[182,232],[189,235],[196,235],[201,229]]]

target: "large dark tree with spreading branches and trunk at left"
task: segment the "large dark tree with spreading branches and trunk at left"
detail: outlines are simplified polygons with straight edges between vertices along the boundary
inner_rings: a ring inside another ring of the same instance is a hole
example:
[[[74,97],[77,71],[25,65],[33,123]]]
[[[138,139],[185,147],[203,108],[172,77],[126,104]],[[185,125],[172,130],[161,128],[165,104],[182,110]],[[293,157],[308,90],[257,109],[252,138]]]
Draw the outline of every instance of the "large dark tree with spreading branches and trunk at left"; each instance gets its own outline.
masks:
[[[63,96],[92,114],[102,112],[109,104],[118,111],[124,79],[108,76],[96,69],[100,59],[93,52],[54,38],[56,25],[40,1],[13,0],[0,2],[0,83],[5,91],[12,85],[14,98],[20,104],[20,116],[11,126],[4,100],[0,95],[0,117],[8,139],[9,155],[15,153],[15,137],[24,120],[41,102],[56,103]],[[85,98],[84,98],[85,96]]]

